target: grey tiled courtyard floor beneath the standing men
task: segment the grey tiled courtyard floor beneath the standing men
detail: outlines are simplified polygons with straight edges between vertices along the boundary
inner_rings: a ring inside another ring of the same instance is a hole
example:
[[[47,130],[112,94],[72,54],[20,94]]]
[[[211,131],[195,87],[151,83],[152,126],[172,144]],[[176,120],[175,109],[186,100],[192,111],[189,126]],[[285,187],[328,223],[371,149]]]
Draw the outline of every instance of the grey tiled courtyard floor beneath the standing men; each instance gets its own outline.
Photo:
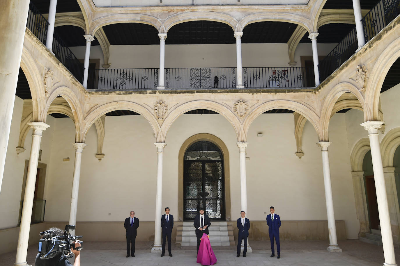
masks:
[[[212,244],[212,243],[211,243]],[[281,258],[270,258],[269,241],[250,242],[253,252],[246,258],[236,258],[236,247],[214,247],[218,265],[298,265],[298,266],[382,266],[384,262],[382,246],[374,246],[358,240],[340,241],[342,253],[326,251],[326,241],[281,241]],[[136,242],[135,258],[126,258],[125,242],[84,242],[81,252],[82,266],[112,265],[200,265],[196,263],[196,247],[180,247],[173,245],[172,258],[160,257],[150,253],[152,242]],[[28,248],[28,263],[34,264],[37,245]],[[400,250],[395,249],[396,258],[400,258]],[[0,255],[0,265],[12,266],[15,252]],[[73,259],[71,260],[73,263]]]

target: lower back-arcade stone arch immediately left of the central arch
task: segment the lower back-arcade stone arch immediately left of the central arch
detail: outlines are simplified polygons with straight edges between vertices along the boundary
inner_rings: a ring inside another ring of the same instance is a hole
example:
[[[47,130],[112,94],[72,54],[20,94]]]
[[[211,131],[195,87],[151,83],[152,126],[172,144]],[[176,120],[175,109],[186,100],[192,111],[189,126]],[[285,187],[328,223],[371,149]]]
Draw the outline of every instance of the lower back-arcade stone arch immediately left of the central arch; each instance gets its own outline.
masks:
[[[84,119],[84,127],[82,129],[82,141],[84,142],[90,127],[97,119],[99,119],[102,115],[105,115],[108,112],[116,110],[130,110],[139,113],[140,115],[143,115],[144,118],[150,123],[154,135],[156,136],[158,135],[160,131],[160,125],[158,124],[158,121],[154,117],[153,113],[151,113],[148,109],[146,109],[146,107],[130,101],[114,101],[106,103],[104,105],[100,105],[86,115]],[[157,142],[163,142],[163,141],[157,141]]]

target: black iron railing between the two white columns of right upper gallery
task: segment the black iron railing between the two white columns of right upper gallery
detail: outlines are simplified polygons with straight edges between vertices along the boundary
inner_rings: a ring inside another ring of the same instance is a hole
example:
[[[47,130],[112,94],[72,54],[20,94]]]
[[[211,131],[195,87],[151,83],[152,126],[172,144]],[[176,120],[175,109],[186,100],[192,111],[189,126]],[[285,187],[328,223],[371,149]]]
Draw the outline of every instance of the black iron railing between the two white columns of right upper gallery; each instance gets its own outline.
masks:
[[[338,45],[322,60],[318,66],[320,81],[326,79],[346,60],[348,60],[358,48],[357,32],[354,27]]]

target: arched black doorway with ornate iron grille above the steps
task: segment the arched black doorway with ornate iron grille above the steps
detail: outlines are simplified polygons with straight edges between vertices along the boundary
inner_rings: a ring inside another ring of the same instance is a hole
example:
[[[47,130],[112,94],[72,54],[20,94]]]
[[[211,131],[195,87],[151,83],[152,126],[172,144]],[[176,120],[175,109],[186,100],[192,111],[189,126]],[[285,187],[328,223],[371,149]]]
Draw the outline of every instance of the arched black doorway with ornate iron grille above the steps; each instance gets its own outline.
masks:
[[[213,220],[225,220],[224,157],[210,141],[193,143],[184,154],[183,218],[193,220],[200,208]]]

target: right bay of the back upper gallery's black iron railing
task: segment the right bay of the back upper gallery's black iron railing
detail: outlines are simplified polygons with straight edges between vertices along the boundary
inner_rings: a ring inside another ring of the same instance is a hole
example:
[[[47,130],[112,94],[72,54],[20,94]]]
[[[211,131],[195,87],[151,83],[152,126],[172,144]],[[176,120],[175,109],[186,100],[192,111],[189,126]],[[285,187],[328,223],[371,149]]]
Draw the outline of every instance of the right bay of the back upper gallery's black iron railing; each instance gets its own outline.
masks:
[[[306,67],[243,67],[245,88],[307,87]]]

